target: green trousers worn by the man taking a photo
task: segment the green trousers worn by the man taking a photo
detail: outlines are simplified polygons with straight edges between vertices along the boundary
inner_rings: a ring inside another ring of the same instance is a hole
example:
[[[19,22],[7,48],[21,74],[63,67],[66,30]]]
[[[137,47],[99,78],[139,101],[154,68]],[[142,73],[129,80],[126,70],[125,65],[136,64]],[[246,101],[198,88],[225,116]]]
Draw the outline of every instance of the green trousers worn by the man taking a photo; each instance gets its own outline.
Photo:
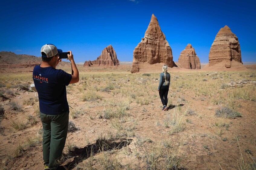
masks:
[[[43,125],[43,159],[50,169],[57,167],[57,160],[61,157],[65,146],[69,111],[59,115],[46,115],[40,112]]]

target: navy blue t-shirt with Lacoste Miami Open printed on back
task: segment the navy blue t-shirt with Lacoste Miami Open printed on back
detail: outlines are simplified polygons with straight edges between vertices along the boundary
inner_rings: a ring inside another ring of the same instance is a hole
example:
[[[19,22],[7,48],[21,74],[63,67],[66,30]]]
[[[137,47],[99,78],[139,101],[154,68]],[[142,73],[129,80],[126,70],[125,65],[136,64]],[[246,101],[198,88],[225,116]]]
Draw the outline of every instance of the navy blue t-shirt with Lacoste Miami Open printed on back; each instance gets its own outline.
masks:
[[[38,92],[40,112],[47,115],[58,115],[69,110],[66,85],[72,75],[53,67],[35,66],[33,80]]]

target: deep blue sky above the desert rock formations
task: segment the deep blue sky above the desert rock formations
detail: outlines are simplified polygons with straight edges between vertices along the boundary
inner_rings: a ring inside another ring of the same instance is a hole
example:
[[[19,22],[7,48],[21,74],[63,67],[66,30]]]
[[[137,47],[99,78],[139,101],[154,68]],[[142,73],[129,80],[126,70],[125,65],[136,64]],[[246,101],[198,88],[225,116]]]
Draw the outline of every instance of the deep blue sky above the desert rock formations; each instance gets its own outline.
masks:
[[[201,63],[208,62],[212,42],[228,25],[238,37],[242,61],[256,61],[256,2],[237,0],[5,1],[0,11],[0,51],[41,56],[51,43],[72,51],[75,62],[95,60],[112,45],[120,61],[132,61],[151,15],[177,61],[190,43]]]

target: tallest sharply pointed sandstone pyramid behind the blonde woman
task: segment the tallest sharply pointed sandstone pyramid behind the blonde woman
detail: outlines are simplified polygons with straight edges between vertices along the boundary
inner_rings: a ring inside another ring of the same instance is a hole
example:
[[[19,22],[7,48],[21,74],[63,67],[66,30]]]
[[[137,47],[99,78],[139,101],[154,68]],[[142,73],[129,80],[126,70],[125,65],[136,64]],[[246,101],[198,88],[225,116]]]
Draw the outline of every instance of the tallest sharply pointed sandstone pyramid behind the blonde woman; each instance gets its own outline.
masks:
[[[139,63],[165,63],[173,67],[172,49],[161,31],[157,18],[152,14],[144,38],[133,51],[131,73],[139,71]]]

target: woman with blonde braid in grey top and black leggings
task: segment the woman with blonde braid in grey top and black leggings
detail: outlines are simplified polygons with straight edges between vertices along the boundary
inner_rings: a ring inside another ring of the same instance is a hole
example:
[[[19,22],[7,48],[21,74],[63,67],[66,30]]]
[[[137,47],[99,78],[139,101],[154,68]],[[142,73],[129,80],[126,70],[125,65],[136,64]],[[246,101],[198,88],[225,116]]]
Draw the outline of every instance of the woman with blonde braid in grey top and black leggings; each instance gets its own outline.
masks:
[[[161,102],[163,104],[163,109],[162,110],[167,110],[167,103],[168,103],[168,99],[167,99],[167,95],[168,95],[168,91],[169,91],[169,85],[170,85],[170,74],[167,73],[167,65],[163,66],[163,73],[160,73],[160,82],[159,82],[159,86],[157,91],[159,91],[159,96],[161,99]]]

